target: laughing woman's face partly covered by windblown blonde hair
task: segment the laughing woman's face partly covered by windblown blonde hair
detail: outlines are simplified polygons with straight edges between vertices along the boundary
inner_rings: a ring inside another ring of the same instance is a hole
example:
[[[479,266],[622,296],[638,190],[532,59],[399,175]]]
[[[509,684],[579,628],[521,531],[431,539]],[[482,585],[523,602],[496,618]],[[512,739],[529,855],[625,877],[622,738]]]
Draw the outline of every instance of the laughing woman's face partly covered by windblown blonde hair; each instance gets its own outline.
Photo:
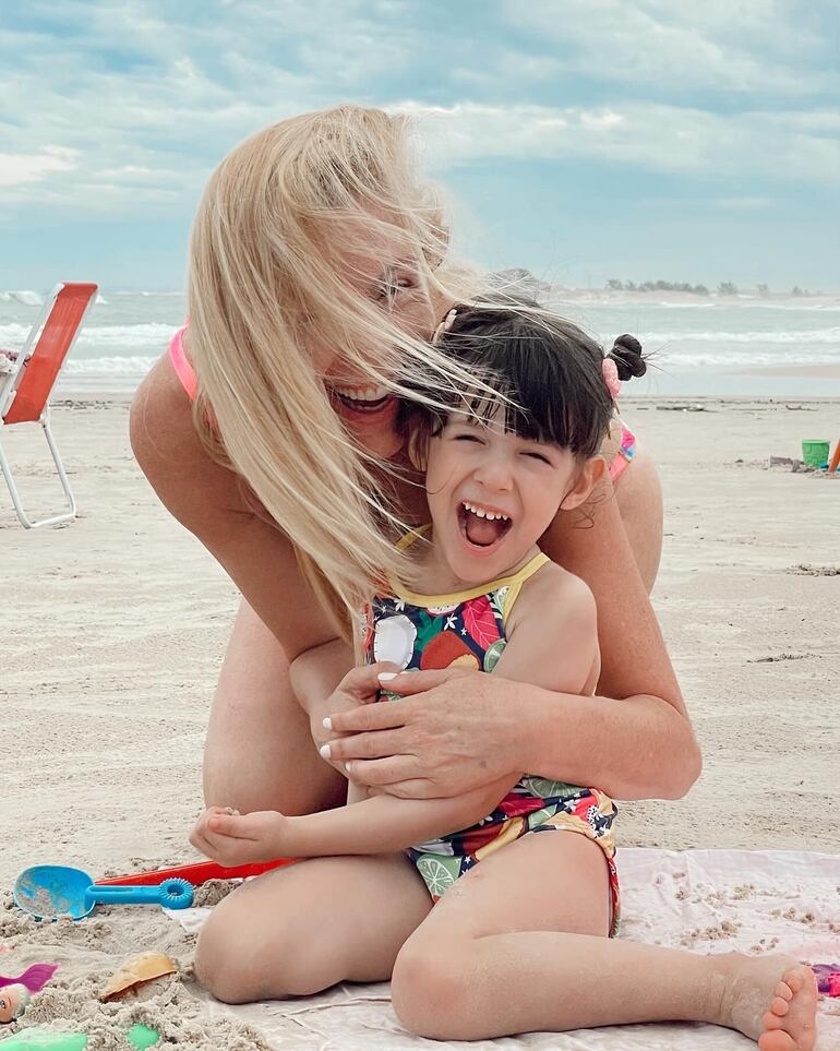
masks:
[[[341,256],[343,273],[352,288],[387,313],[404,332],[428,341],[437,323],[429,297],[428,268],[421,258],[403,258],[387,243],[371,244]],[[371,453],[394,455],[400,445],[395,430],[399,399],[376,386],[340,347],[313,339],[309,345],[317,373],[324,379],[331,402],[353,437]]]

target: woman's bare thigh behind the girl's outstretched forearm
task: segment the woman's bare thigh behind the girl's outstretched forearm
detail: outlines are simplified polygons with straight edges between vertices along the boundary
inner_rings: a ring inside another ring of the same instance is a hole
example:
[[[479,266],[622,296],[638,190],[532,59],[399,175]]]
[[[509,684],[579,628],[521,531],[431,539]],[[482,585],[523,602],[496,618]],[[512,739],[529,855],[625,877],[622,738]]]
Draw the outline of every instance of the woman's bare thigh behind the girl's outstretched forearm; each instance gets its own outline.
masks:
[[[312,743],[280,644],[243,599],[207,729],[206,804],[304,814],[344,803],[346,791]]]

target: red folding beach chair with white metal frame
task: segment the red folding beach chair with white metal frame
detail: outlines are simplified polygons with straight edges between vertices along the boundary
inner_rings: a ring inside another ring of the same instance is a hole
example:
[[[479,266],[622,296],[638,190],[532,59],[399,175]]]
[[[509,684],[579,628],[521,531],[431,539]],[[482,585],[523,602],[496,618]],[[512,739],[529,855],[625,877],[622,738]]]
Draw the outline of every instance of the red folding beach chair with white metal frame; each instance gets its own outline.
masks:
[[[92,284],[56,285],[44,303],[40,317],[32,326],[23,349],[0,351],[0,469],[25,529],[55,525],[75,517],[75,500],[49,426],[49,398],[96,291],[97,286]],[[64,490],[67,510],[60,514],[33,521],[24,510],[2,446],[3,431],[15,423],[40,423],[44,428]]]

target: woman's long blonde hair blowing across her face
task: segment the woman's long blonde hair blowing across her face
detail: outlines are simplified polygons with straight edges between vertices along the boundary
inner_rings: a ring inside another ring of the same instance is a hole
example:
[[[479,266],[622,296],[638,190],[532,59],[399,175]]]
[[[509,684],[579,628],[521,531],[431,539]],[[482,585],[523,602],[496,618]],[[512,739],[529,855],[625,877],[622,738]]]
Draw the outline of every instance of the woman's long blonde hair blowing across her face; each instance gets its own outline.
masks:
[[[345,430],[307,334],[335,347],[352,374],[396,394],[412,396],[405,383],[420,371],[427,383],[430,370],[437,383],[465,382],[341,272],[348,252],[383,243],[394,262],[417,259],[439,314],[465,292],[463,275],[439,265],[446,229],[409,145],[405,118],[358,106],[274,124],[213,174],[190,242],[196,427],[289,537],[347,637],[348,614],[387,578],[405,577],[385,530],[400,523],[376,492],[372,471],[383,465]]]

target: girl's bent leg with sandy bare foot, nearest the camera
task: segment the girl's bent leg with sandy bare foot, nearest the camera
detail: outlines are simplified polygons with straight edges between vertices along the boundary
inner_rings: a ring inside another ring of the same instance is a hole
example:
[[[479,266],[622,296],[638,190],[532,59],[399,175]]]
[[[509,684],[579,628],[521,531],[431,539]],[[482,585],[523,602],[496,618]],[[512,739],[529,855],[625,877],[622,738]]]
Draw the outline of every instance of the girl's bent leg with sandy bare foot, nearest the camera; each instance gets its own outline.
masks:
[[[446,892],[400,951],[397,1015],[451,1040],[694,1020],[760,1036],[763,1051],[814,1047],[808,968],[608,939],[608,903],[603,855],[585,836],[541,832],[503,847]]]

